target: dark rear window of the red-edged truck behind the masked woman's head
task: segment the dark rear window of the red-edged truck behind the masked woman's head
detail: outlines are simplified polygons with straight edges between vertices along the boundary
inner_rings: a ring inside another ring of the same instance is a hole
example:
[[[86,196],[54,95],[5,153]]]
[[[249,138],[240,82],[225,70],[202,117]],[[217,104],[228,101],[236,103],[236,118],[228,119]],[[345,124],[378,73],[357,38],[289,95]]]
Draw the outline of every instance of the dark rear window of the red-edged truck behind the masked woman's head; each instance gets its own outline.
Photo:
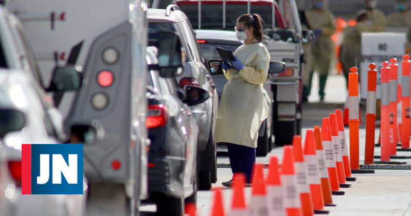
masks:
[[[198,29],[199,14],[198,5],[180,5],[181,10],[187,15],[194,29]],[[201,27],[204,29],[223,28],[223,5],[201,5]],[[269,5],[251,5],[251,12],[258,13],[264,20],[264,28],[271,28],[272,8]],[[226,29],[234,29],[239,16],[247,13],[246,4],[229,4],[226,6]],[[277,23],[277,22],[276,22]],[[277,26],[277,24],[276,24]]]

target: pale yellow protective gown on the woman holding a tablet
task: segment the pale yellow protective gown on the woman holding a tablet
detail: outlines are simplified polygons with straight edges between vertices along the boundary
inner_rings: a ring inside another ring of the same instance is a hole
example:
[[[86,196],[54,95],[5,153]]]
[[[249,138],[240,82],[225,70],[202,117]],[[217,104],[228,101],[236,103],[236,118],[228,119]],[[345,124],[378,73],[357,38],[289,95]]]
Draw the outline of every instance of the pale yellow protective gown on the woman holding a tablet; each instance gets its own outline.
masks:
[[[267,79],[270,53],[261,43],[244,44],[234,52],[244,69],[224,71],[224,86],[215,127],[216,142],[257,148],[258,130],[269,113]]]

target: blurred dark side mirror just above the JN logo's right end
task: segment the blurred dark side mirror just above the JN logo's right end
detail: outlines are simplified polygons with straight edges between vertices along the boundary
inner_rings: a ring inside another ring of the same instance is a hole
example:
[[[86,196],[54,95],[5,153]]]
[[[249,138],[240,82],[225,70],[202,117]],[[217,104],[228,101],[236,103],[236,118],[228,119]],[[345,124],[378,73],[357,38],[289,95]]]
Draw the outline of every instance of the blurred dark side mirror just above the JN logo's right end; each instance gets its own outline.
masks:
[[[69,143],[93,143],[103,133],[101,128],[87,124],[73,124],[70,127]]]

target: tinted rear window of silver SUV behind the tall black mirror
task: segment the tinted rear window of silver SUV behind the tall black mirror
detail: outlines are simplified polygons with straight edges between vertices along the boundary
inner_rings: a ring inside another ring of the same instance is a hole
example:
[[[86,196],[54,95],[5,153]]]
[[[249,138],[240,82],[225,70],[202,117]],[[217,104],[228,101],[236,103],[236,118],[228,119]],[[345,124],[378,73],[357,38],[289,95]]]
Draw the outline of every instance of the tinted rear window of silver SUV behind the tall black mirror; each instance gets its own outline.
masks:
[[[157,35],[158,32],[160,31],[166,31],[166,32],[173,32],[175,34],[177,34],[180,37],[180,42],[181,44],[184,45],[185,50],[188,49],[187,44],[185,44],[182,40],[181,40],[181,34],[177,29],[177,24],[176,23],[164,23],[164,22],[150,22],[149,23],[149,46],[155,46],[157,47]],[[193,57],[193,53],[192,52],[186,52],[186,61],[187,62],[191,62],[193,61],[194,57]]]

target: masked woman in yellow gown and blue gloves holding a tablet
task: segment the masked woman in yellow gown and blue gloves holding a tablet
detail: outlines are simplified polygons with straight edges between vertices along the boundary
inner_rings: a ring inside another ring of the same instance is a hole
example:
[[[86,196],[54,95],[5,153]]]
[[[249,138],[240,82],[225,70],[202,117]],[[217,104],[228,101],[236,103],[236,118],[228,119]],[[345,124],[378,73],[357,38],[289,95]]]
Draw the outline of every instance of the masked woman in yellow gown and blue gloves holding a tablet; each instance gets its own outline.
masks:
[[[215,128],[216,142],[227,145],[231,170],[242,172],[248,184],[253,181],[258,130],[269,113],[267,93],[262,84],[267,79],[270,53],[261,43],[263,20],[258,14],[244,14],[235,30],[244,44],[234,52],[235,61],[223,63],[225,84]],[[231,179],[223,185],[230,187]]]

